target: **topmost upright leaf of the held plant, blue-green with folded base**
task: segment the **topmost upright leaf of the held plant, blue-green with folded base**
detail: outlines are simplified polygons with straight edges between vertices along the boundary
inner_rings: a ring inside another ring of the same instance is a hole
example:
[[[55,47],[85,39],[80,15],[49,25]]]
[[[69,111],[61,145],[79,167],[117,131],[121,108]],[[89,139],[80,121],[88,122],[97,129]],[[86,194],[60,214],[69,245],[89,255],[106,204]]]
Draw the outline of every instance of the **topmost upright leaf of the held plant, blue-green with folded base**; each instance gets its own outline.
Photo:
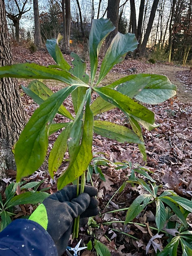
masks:
[[[98,66],[98,54],[101,45],[108,34],[114,29],[115,27],[109,19],[100,18],[92,20],[92,27],[89,35],[91,84],[93,84],[96,74]]]

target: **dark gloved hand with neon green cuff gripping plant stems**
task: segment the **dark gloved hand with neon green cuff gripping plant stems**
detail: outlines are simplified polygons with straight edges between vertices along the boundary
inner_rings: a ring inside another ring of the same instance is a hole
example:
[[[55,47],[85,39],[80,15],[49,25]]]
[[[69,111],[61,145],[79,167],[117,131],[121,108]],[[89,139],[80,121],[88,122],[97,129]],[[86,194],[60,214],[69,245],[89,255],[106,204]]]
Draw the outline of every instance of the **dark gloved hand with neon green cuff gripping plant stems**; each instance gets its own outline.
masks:
[[[68,245],[74,218],[98,214],[98,200],[94,197],[97,193],[96,188],[85,186],[84,193],[77,197],[77,186],[66,186],[47,197],[30,216],[30,220],[43,226],[51,235],[59,256]]]

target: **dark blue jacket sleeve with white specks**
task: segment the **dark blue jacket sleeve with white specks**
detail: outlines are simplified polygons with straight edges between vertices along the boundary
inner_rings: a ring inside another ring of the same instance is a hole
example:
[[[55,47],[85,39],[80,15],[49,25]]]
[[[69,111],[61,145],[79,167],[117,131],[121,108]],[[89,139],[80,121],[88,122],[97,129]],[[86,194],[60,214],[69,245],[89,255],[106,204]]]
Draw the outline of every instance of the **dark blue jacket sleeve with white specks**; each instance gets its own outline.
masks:
[[[0,256],[58,256],[47,231],[32,220],[14,220],[0,232]]]

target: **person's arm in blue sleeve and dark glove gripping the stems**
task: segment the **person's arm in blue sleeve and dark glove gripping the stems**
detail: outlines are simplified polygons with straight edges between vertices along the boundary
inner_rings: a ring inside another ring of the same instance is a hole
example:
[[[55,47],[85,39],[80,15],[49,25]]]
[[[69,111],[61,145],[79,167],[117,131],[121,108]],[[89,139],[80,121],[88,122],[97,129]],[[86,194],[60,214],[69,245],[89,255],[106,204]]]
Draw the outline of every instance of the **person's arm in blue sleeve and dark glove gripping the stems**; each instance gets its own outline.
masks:
[[[13,221],[0,233],[0,256],[3,251],[6,252],[3,255],[8,256],[62,255],[68,245],[74,218],[78,215],[87,218],[99,212],[96,188],[85,186],[83,194],[77,197],[76,193],[77,186],[66,186],[46,198],[29,220]],[[12,251],[15,254],[11,254]]]

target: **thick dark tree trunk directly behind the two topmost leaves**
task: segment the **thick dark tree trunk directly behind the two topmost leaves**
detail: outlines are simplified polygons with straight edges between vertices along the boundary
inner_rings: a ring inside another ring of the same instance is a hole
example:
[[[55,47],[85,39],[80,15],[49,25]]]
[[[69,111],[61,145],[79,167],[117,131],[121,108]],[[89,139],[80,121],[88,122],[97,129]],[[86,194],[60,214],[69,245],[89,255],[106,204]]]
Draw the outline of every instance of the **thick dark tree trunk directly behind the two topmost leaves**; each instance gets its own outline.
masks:
[[[115,26],[115,30],[113,30],[109,36],[106,38],[106,47],[108,47],[113,40],[113,37],[118,32],[118,24],[119,24],[119,2],[120,0],[108,0],[107,5],[107,19],[111,19],[111,22]]]

